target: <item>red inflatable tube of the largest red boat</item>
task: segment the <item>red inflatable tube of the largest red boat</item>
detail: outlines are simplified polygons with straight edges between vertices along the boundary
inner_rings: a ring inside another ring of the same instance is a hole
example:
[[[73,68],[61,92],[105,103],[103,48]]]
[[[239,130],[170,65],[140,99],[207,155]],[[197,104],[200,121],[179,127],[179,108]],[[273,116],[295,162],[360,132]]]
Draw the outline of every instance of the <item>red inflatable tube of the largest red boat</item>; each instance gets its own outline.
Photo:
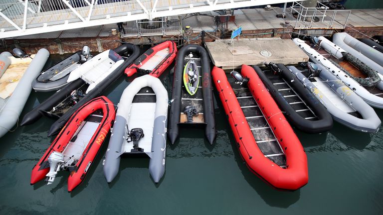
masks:
[[[224,71],[214,67],[213,81],[228,116],[239,152],[247,167],[276,189],[297,190],[308,182],[307,157],[304,149],[281,110],[250,66],[242,65],[242,76],[249,79],[248,87],[286,156],[286,169],[264,156],[249,124],[227,81]]]

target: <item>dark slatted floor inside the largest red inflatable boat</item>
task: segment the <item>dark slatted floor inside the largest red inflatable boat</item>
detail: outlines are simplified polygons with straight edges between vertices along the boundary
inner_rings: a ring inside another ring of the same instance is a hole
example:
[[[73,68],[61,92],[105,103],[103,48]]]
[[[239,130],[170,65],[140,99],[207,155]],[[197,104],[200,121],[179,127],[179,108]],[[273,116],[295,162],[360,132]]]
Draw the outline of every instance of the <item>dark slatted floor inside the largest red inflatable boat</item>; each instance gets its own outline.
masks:
[[[286,168],[286,156],[247,86],[235,84],[230,75],[227,75],[227,80],[237,97],[259,149],[265,157],[280,167]]]

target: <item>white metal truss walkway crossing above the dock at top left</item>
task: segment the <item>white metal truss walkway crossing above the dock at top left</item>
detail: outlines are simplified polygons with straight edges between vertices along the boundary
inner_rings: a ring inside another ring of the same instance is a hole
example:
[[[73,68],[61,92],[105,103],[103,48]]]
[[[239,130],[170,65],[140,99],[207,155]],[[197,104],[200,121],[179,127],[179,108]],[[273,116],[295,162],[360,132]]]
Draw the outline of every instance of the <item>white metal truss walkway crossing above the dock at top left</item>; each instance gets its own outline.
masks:
[[[292,0],[1,0],[0,38]]]

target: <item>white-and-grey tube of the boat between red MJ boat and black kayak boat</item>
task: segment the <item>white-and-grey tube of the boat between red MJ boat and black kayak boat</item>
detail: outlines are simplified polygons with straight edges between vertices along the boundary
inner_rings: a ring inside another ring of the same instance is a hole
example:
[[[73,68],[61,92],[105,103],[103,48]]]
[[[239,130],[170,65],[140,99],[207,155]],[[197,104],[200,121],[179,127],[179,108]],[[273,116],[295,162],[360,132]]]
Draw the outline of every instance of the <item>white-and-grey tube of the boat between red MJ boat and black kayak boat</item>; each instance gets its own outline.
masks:
[[[168,92],[159,79],[150,75],[145,75],[136,78],[124,90],[121,96],[103,167],[104,176],[108,183],[112,182],[118,173],[121,159],[120,156],[123,153],[130,152],[123,150],[128,131],[126,125],[128,124],[131,115],[138,114],[137,112],[131,112],[132,102],[135,95],[144,87],[151,87],[156,94],[154,122],[153,124],[150,123],[150,127],[154,128],[152,135],[152,149],[151,152],[145,152],[150,157],[149,172],[155,183],[158,183],[165,173],[166,130],[169,101]],[[143,129],[145,132],[145,127],[143,127]]]

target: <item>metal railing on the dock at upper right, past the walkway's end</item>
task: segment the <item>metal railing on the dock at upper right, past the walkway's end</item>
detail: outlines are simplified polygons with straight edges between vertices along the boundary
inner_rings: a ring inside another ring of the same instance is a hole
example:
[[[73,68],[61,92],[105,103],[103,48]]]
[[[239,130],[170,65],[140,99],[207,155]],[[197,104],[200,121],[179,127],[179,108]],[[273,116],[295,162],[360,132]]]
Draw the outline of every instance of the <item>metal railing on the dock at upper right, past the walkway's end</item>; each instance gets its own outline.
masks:
[[[330,10],[321,2],[318,2],[317,7],[305,7],[294,1],[290,13],[296,18],[295,29],[344,29],[351,10]]]

